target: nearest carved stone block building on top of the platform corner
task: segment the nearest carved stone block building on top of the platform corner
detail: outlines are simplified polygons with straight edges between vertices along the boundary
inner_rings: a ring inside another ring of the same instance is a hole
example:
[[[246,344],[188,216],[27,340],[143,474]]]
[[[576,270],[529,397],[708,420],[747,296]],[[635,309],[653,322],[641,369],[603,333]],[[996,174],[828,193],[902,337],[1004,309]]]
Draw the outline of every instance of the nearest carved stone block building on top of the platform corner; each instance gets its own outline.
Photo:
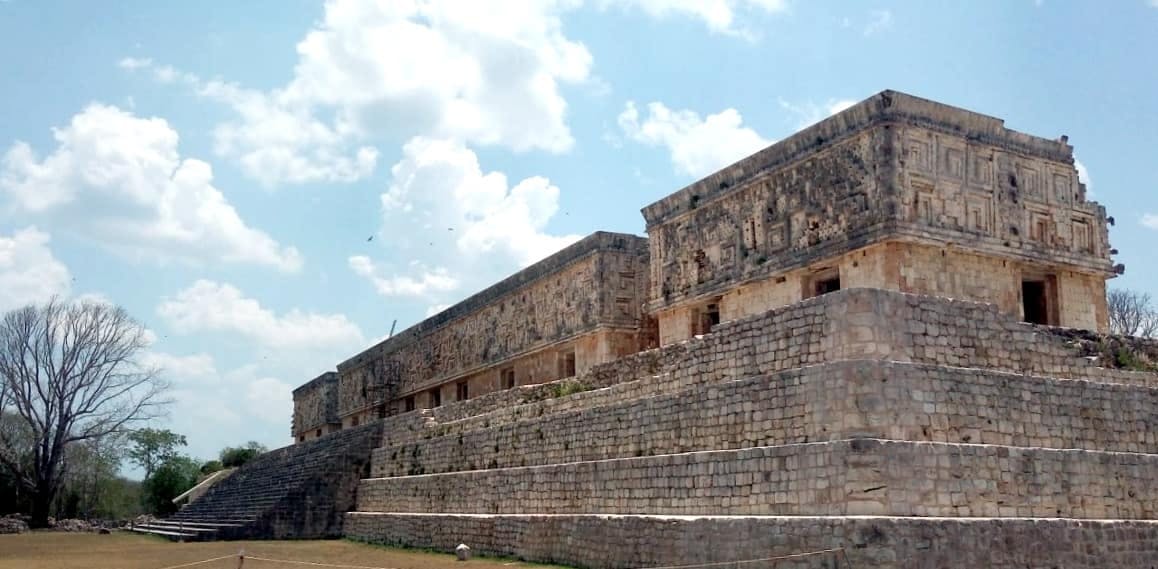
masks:
[[[643,210],[661,343],[838,287],[1105,331],[1105,210],[1072,148],[885,92]]]

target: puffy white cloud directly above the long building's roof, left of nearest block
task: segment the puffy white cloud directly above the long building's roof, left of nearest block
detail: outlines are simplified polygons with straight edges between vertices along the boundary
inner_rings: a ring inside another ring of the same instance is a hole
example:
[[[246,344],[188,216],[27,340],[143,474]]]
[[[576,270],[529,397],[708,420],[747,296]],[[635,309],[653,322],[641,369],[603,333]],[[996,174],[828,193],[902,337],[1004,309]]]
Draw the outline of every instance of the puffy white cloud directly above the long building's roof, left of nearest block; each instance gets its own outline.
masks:
[[[384,296],[446,298],[526,267],[574,242],[547,223],[559,209],[559,189],[533,176],[513,185],[483,172],[462,143],[416,138],[403,148],[382,195],[382,241],[403,265],[350,257],[351,270]],[[420,261],[419,261],[420,260]]]

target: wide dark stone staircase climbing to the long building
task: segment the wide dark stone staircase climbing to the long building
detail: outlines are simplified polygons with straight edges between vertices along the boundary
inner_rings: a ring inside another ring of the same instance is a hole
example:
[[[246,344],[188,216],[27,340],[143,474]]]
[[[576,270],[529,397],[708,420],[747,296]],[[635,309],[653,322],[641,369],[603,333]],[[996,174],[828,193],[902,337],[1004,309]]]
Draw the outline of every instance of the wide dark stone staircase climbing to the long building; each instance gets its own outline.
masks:
[[[380,435],[371,423],[267,452],[170,518],[134,531],[184,541],[338,537]]]

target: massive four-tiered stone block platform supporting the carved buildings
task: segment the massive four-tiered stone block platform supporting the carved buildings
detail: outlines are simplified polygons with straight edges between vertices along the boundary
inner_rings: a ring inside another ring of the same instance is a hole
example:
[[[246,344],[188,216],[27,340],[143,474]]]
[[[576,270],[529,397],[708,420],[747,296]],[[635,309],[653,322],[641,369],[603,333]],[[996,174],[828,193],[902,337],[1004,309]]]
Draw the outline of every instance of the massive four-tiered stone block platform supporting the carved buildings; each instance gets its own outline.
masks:
[[[1158,374],[848,290],[389,417],[347,537],[581,567],[1158,567]],[[556,396],[558,395],[558,396]]]

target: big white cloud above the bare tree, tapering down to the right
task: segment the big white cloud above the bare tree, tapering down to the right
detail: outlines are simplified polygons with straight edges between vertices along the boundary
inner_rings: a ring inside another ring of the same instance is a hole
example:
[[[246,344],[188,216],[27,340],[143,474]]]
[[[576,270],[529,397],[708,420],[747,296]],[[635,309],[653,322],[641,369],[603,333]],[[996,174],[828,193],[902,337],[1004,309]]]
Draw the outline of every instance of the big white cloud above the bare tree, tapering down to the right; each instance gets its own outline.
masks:
[[[10,213],[130,258],[301,267],[296,249],[241,219],[213,185],[208,163],[181,156],[164,119],[91,104],[53,137],[57,147],[44,158],[24,143],[3,154],[0,195]]]

